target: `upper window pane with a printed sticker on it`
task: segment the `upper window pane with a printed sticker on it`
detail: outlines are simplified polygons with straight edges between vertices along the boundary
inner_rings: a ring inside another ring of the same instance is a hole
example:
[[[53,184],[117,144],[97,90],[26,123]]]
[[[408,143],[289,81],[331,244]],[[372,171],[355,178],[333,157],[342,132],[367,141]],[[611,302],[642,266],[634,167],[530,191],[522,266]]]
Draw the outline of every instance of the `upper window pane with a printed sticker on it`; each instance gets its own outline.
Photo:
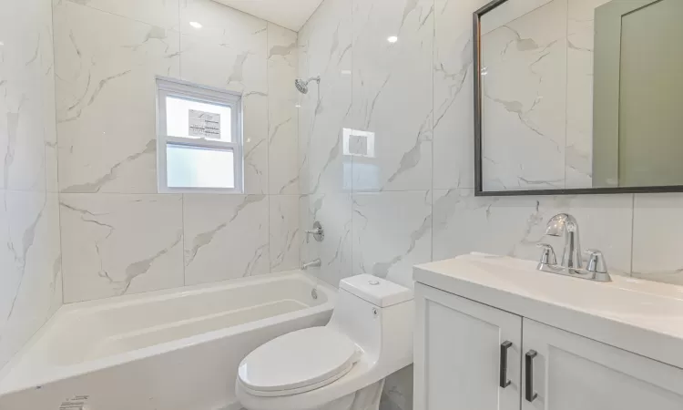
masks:
[[[178,97],[166,97],[166,133],[171,137],[232,141],[232,109]]]

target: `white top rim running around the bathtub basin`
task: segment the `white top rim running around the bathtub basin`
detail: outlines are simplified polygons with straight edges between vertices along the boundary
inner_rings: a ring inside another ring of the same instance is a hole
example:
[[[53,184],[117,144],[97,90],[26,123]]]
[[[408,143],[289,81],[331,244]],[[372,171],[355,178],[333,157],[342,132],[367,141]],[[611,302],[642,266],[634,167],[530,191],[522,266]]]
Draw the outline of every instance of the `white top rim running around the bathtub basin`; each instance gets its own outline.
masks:
[[[81,312],[97,313],[99,311],[107,310],[107,308],[113,308],[117,306],[130,306],[143,304],[145,302],[158,302],[173,299],[175,297],[183,297],[185,295],[200,294],[203,292],[220,292],[226,289],[240,288],[264,282],[276,282],[288,277],[308,282],[311,284],[311,286],[316,286],[318,292],[323,292],[325,294],[327,301],[322,302],[317,306],[311,306],[296,312],[276,314],[274,316],[257,321],[241,323],[239,325],[229,326],[227,328],[209,331],[206,333],[194,334],[177,340],[157,343],[130,352],[112,354],[79,364],[70,364],[65,366],[40,366],[37,364],[31,364],[29,361],[27,368],[20,367],[26,358],[26,355],[32,351],[32,349],[36,346],[36,343],[38,343],[46,335],[46,333],[50,332],[56,326],[56,323],[59,322],[59,319],[63,316],[78,314]],[[21,392],[29,388],[40,388],[39,386],[41,385],[55,383],[71,377],[91,374],[109,367],[130,364],[158,354],[165,354],[175,352],[180,349],[190,348],[202,343],[208,343],[217,339],[227,338],[236,334],[258,331],[259,329],[278,323],[296,321],[304,317],[331,312],[331,310],[334,308],[334,304],[336,303],[336,299],[337,289],[331,286],[329,283],[324,282],[315,275],[307,272],[287,271],[266,273],[263,275],[232,279],[222,282],[201,283],[182,288],[141,292],[94,301],[64,304],[31,337],[29,342],[25,343],[22,349],[15,354],[12,360],[5,364],[5,367],[2,369],[2,371],[0,371],[0,397],[3,395]],[[16,374],[15,371],[21,372]],[[36,373],[39,373],[39,375],[28,377],[25,375],[27,371],[36,371]]]

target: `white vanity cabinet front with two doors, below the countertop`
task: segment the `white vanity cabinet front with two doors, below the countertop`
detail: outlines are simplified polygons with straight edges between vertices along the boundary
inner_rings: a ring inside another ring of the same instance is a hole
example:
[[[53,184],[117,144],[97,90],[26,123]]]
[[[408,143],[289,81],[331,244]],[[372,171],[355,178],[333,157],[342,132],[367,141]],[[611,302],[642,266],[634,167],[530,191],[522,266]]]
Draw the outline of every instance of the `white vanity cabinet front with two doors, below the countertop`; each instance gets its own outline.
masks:
[[[683,410],[683,369],[415,288],[415,410]]]

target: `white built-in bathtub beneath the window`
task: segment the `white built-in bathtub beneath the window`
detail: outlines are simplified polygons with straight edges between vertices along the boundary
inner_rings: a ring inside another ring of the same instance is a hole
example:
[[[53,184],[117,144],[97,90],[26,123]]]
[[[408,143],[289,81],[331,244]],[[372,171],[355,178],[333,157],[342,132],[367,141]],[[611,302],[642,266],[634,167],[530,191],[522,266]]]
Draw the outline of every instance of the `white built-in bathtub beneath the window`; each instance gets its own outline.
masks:
[[[0,409],[239,409],[242,358],[335,299],[297,271],[68,304],[3,369]]]

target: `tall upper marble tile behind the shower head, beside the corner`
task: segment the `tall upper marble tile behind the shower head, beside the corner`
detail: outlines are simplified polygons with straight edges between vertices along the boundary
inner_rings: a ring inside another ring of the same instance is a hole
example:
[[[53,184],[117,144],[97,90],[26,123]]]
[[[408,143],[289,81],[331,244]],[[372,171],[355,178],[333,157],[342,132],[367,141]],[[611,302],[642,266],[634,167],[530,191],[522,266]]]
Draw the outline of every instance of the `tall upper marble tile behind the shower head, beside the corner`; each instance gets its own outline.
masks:
[[[351,190],[351,158],[343,156],[342,128],[351,125],[351,0],[327,0],[299,33],[299,70],[311,82],[300,97],[301,193]]]

